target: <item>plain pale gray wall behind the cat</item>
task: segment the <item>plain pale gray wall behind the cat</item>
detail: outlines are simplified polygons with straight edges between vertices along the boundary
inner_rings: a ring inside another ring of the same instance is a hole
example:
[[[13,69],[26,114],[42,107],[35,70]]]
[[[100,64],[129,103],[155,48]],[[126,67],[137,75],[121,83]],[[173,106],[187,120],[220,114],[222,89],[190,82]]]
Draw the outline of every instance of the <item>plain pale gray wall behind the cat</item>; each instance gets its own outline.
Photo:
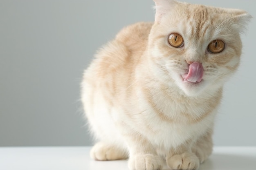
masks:
[[[240,8],[255,1],[186,0]],[[153,21],[152,0],[0,0],[0,146],[86,146],[83,69],[122,27]],[[242,64],[225,86],[217,146],[256,145],[256,22],[242,36]]]

